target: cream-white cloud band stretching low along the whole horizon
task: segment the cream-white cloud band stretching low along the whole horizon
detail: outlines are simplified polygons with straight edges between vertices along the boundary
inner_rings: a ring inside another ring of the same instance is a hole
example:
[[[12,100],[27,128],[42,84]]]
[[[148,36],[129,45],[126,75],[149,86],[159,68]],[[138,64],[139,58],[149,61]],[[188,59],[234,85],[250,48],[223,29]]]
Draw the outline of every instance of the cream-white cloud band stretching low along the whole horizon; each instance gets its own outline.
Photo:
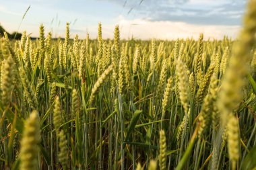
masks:
[[[205,40],[207,38],[222,39],[223,36],[229,36],[236,38],[241,26],[225,26],[225,25],[198,25],[187,24],[185,22],[170,22],[170,21],[151,21],[150,19],[127,19],[120,15],[116,20],[119,24],[121,38],[133,38],[149,40],[151,38],[158,38],[162,40],[173,40],[177,38],[195,38],[197,39],[200,33],[204,34]],[[7,30],[14,31],[11,28],[13,26],[6,25]],[[38,26],[35,24],[24,24],[24,30],[28,33],[32,33],[31,36],[38,36]],[[45,26],[45,33],[49,32],[51,28],[48,25]],[[115,24],[102,23],[102,37],[113,38],[114,37]],[[22,32],[20,30],[20,32]],[[57,33],[55,35],[55,32]],[[96,24],[89,25],[76,25],[70,26],[71,38],[78,34],[79,38],[86,38],[86,33],[90,34],[90,38],[97,38],[98,26]],[[55,30],[53,28],[53,36],[65,36],[65,26],[61,26]]]

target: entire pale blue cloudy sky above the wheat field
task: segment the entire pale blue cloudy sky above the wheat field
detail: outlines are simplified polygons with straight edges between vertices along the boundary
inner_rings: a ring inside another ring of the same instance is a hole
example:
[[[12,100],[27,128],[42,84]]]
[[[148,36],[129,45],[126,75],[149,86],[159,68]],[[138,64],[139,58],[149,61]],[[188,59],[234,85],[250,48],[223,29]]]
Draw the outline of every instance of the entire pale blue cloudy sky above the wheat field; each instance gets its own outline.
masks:
[[[113,38],[118,24],[121,38],[221,39],[236,38],[243,24],[247,0],[0,0],[0,24],[8,32],[24,32],[37,37],[40,24],[45,34],[65,36],[70,23],[71,38]],[[22,20],[22,17],[26,16]]]

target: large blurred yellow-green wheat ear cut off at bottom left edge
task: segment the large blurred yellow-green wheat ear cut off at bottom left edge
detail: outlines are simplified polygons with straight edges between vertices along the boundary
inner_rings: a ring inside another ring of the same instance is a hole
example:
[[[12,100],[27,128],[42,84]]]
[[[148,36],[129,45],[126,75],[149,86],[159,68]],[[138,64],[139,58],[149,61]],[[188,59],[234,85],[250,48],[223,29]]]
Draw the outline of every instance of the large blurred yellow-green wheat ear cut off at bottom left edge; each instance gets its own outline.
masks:
[[[20,169],[38,169],[38,143],[40,142],[40,121],[36,110],[26,120],[21,141]]]

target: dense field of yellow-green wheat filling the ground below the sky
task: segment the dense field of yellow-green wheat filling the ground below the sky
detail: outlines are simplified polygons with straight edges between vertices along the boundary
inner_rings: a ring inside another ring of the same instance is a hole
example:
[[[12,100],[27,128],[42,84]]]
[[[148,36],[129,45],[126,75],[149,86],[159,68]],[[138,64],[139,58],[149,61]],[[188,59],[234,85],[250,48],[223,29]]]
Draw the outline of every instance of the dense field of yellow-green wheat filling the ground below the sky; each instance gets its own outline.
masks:
[[[3,35],[0,169],[255,169],[255,0],[244,21],[237,40]]]

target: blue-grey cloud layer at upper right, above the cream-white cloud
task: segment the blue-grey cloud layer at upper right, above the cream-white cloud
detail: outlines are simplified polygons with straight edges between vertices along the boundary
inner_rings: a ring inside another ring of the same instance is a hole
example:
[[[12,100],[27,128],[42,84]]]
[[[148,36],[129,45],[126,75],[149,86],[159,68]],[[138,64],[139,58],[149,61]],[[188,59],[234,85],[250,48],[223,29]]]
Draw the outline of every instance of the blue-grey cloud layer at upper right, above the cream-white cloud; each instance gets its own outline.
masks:
[[[246,4],[245,0],[144,0],[141,4],[135,0],[108,1],[123,5],[127,11],[132,9],[128,15],[150,17],[152,21],[220,26],[241,24]]]

